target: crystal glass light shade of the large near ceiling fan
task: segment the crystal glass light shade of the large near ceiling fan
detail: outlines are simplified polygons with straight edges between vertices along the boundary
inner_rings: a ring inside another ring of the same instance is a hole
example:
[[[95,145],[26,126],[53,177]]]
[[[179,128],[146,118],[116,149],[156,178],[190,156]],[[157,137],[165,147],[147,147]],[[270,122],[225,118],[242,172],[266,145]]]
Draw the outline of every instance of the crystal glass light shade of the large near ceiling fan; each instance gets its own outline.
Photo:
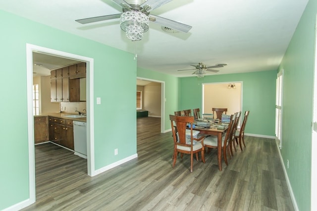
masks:
[[[120,17],[120,27],[128,39],[139,41],[143,33],[149,30],[149,16],[139,11],[126,11]]]

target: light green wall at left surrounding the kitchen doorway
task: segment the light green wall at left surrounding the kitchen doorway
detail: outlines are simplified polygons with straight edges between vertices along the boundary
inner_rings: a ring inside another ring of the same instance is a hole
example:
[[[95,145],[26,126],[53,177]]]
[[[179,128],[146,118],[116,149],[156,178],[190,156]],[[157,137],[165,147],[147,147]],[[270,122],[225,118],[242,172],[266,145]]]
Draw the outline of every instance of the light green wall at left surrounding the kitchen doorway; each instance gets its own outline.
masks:
[[[29,199],[26,43],[94,59],[95,170],[137,153],[133,54],[2,10],[0,19],[5,20],[0,26],[0,210]],[[96,97],[102,104],[96,104]],[[130,126],[125,128],[129,138],[120,135],[120,119]]]

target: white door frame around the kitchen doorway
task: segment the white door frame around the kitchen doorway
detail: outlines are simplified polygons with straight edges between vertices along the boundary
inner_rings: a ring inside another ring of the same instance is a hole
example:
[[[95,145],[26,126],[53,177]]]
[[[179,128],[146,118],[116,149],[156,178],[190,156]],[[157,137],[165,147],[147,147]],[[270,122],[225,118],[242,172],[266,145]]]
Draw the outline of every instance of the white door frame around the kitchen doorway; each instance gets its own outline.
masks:
[[[34,155],[34,118],[33,118],[33,52],[47,53],[53,56],[86,62],[87,64],[87,171],[89,176],[96,175],[94,148],[94,59],[33,44],[26,44],[27,75],[27,122],[29,150],[29,196],[30,203],[36,200],[35,195],[35,155]]]

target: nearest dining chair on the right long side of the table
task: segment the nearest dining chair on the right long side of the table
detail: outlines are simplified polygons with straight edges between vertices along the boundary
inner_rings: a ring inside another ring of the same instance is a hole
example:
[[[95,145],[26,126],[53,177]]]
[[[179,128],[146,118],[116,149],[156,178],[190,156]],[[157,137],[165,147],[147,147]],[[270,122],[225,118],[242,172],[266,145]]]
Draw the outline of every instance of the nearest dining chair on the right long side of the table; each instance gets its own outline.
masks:
[[[221,140],[222,154],[223,154],[224,162],[226,163],[227,166],[228,166],[227,153],[229,155],[229,158],[231,158],[230,152],[229,152],[229,145],[230,145],[229,143],[230,143],[230,139],[232,137],[235,119],[236,119],[236,114],[233,114],[230,116],[230,122],[228,125],[228,129],[227,129],[226,133],[223,134],[222,140]],[[211,136],[206,137],[204,139],[204,146],[205,146],[205,151],[206,151],[206,148],[217,149],[218,148],[217,136],[211,135]]]

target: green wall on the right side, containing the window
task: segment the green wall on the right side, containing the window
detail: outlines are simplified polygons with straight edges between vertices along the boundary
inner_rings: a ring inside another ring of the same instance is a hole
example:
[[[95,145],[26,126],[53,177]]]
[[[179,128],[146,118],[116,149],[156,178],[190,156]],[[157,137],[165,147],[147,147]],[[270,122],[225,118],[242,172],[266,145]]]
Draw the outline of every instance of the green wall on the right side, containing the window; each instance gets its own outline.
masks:
[[[300,211],[310,210],[313,79],[317,1],[310,0],[284,55],[282,148],[288,178]]]

